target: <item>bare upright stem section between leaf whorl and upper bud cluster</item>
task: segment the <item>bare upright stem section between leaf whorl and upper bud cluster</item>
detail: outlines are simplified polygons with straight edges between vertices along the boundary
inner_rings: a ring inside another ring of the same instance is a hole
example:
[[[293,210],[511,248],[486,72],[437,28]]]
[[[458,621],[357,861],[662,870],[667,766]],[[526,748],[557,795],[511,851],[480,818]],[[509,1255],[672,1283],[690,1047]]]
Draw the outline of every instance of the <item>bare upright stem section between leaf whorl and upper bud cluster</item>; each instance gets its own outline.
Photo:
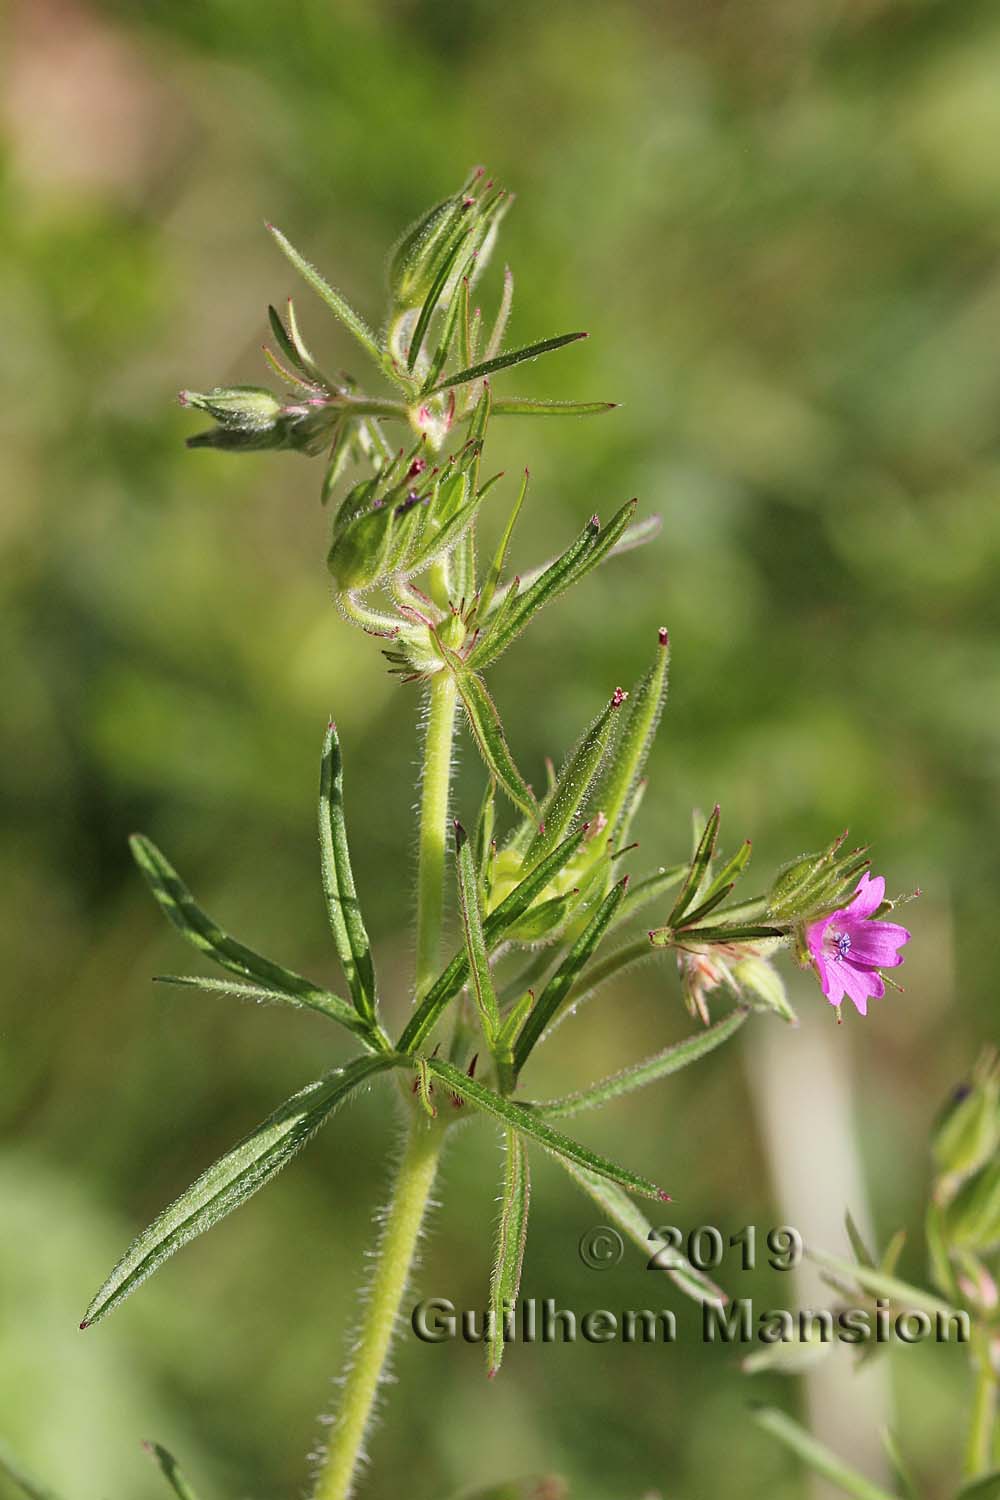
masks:
[[[417,999],[436,978],[444,918],[444,864],[448,838],[448,789],[457,686],[451,672],[430,680],[420,795],[420,868],[417,874]]]

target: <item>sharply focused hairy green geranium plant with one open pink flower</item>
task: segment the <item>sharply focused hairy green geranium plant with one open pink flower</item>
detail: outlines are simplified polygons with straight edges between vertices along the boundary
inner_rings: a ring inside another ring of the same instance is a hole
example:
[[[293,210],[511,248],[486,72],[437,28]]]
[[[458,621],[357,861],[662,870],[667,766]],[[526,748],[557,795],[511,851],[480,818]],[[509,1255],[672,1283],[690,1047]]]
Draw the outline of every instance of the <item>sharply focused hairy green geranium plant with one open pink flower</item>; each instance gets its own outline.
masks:
[[[271,228],[280,250],[375,366],[378,390],[369,393],[352,376],[324,370],[289,302],[285,314],[268,309],[273,348],[267,358],[279,393],[226,387],[181,394],[189,408],[211,418],[207,430],[189,440],[192,447],[294,448],[322,458],[321,498],[333,507],[328,567],[336,603],[349,624],[373,638],[388,670],[414,684],[415,700],[423,700],[412,1005],[402,1032],[390,1035],[351,866],[349,747],[342,752],[334,723],[322,748],[319,836],[342,993],[231,938],[201,910],[159,849],[136,836],[135,860],[163,914],[223,970],[216,978],[166,976],[166,982],[319,1011],[351,1035],[354,1056],[280,1104],[165,1209],[114,1268],[81,1326],[91,1328],[120,1306],[168,1256],[270,1182],[340,1104],[381,1080],[397,1101],[403,1146],[373,1272],[366,1278],[360,1328],[346,1356],[339,1410],[315,1474],[318,1500],[343,1500],[357,1482],[453,1125],[478,1114],[505,1142],[486,1340],[493,1376],[504,1352],[502,1314],[519,1288],[529,1152],[550,1152],[601,1214],[646,1250],[651,1226],[634,1198],[666,1198],[664,1185],[579,1144],[561,1122],[696,1062],[733,1036],[753,1011],[792,1020],[774,968],[783,946],[798,945],[802,962],[819,968],[831,1000],[844,988],[853,998],[846,981],[837,994],[828,984],[831,966],[847,957],[840,951],[843,934],[834,940],[835,951],[828,951],[829,924],[843,916],[852,924],[844,933],[855,942],[862,920],[889,909],[879,882],[858,886],[859,878],[862,885],[867,880],[868,858],[864,849],[847,850],[843,838],[793,861],[765,894],[735,898],[750,843],[729,856],[720,852],[718,807],[696,818],[693,843],[675,850],[672,862],[630,873],[646,759],[667,692],[670,644],[658,622],[645,627],[646,674],[628,692],[595,684],[594,718],[561,768],[549,770],[544,789],[535,792],[519,766],[487,686],[489,669],[543,606],[582,585],[598,566],[649,542],[657,522],[637,519],[637,502],[627,500],[604,520],[582,516],[579,534],[555,560],[511,573],[516,522],[528,494],[525,474],[513,488],[498,546],[480,555],[480,514],[487,502],[496,506],[505,488],[501,474],[484,470],[493,420],[579,418],[612,410],[603,400],[538,400],[507,392],[507,372],[514,366],[583,338],[568,333],[505,348],[510,270],[486,328],[475,286],[510,201],[477,171],[403,236],[390,261],[381,333]],[[373,669],[378,664],[373,654]],[[484,795],[474,816],[453,806],[459,722],[483,759]],[[442,951],[447,902],[454,903],[462,933],[451,954]],[[886,928],[876,921],[871,932],[879,926]],[[903,930],[891,930],[892,951],[888,940],[864,956],[858,944],[853,948],[867,963],[867,994],[879,993],[871,975],[895,962],[903,942]],[[687,1005],[705,1026],[622,1072],[582,1083],[568,1096],[532,1098],[535,1052],[567,1012],[633,966],[664,958],[678,966]],[[714,996],[727,1005],[712,1023]],[[724,1296],[679,1254],[669,1275],[696,1299]],[[169,1455],[154,1449],[154,1456],[175,1491],[190,1494]]]

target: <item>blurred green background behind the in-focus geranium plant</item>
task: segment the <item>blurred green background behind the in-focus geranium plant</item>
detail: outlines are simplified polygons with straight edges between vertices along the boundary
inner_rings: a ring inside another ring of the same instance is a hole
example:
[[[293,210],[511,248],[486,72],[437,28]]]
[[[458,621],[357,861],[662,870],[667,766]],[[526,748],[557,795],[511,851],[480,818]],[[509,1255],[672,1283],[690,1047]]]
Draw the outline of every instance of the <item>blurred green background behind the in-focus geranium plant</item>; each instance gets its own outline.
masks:
[[[478,160],[519,194],[511,340],[591,332],[505,388],[624,404],[495,424],[493,466],[532,471],[517,564],[631,494],[664,522],[495,670],[519,762],[538,778],[666,622],[640,866],[681,858],[691,807],[718,800],[759,880],[850,825],[891,891],[924,892],[906,994],[838,1030],[793,975],[798,1034],[760,1018],[579,1134],[666,1180],[678,1222],[726,1233],[784,1216],[843,1250],[853,1182],[880,1240],[910,1227],[903,1270],[922,1278],[928,1126],[996,1035],[997,8],[13,0],[3,26],[3,1432],[70,1500],[159,1492],[144,1437],[205,1497],[304,1482],[385,1188],[387,1092],[75,1332],[130,1234],[346,1054],[318,1017],[151,988],[189,964],[129,831],[231,930],[333,980],[313,800],[336,711],[360,888],[406,1008],[418,692],[331,608],[318,465],[186,453],[172,398],[265,378],[265,304],[298,288],[264,219],[376,320],[388,246]],[[304,290],[298,306],[318,351],[354,357]],[[642,970],[565,1028],[532,1088],[688,1029],[675,976]],[[481,1306],[498,1166],[487,1126],[460,1132],[426,1293]],[[660,1305],[639,1256],[580,1264],[594,1221],[538,1161],[525,1290]],[[771,1272],[720,1275],[793,1302]],[[747,1419],[760,1396],[811,1402],[843,1452],[870,1452],[895,1400],[924,1494],[949,1492],[957,1352],[892,1354],[859,1407],[849,1360],[828,1400],[751,1382],[679,1316],[673,1348],[516,1347],[495,1386],[478,1348],[403,1340],[364,1492],[555,1468],[588,1500],[801,1500]]]

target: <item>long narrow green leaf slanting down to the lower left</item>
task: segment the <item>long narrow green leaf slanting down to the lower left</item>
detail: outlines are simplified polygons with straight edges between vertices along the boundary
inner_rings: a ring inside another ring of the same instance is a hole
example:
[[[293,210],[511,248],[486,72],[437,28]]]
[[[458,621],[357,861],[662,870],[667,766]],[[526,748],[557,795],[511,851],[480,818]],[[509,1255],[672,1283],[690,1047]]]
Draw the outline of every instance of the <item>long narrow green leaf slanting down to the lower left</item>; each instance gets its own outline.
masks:
[[[246,1203],[301,1150],[348,1094],[376,1072],[396,1066],[397,1060],[393,1056],[355,1058],[345,1068],[306,1084],[268,1114],[132,1242],[87,1308],[81,1328],[99,1323],[175,1250]]]

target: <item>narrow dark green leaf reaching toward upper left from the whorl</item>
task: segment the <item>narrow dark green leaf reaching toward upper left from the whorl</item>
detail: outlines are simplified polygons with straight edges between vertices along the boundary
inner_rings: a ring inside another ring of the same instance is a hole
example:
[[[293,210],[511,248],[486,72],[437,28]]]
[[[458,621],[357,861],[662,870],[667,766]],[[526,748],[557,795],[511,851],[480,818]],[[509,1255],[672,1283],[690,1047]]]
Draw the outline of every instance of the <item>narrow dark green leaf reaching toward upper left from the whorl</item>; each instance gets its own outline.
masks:
[[[198,948],[199,952],[214,958],[223,969],[238,974],[265,990],[279,990],[283,994],[321,1011],[333,1020],[340,1022],[351,1030],[369,1038],[369,1028],[364,1026],[346,1000],[328,990],[322,990],[310,980],[303,980],[300,974],[283,969],[279,963],[264,958],[252,948],[246,948],[235,938],[229,938],[211,916],[201,910],[193,896],[177,874],[177,870],[163,858],[160,850],[142,834],[133,834],[129,840],[132,856],[145,876],[145,882],[159,902],[160,910],[178,933]]]

